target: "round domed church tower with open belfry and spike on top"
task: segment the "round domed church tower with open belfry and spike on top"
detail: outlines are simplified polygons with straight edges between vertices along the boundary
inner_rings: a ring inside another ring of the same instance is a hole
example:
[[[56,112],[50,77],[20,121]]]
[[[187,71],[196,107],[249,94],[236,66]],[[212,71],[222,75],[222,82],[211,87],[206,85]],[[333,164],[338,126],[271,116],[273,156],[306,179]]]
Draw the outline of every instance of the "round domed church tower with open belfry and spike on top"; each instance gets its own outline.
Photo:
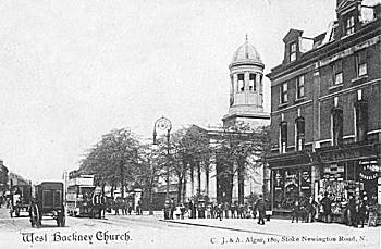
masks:
[[[244,123],[250,127],[268,125],[270,114],[263,112],[265,64],[256,48],[247,40],[235,51],[230,70],[230,107],[223,126]]]

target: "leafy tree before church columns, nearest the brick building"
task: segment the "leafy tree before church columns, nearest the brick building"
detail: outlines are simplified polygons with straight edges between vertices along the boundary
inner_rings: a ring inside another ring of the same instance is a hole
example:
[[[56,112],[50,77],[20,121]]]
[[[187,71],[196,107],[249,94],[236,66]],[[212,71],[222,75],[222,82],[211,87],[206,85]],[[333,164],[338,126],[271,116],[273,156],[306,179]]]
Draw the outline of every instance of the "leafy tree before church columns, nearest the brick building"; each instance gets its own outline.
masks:
[[[263,166],[265,152],[270,146],[268,129],[259,127],[251,129],[247,125],[235,124],[222,128],[214,136],[214,148],[218,180],[218,200],[231,202],[233,189],[233,176],[236,173],[238,179],[238,202],[244,202],[245,178],[251,177],[249,172],[258,174],[258,169]],[[254,178],[255,179],[255,178]]]

